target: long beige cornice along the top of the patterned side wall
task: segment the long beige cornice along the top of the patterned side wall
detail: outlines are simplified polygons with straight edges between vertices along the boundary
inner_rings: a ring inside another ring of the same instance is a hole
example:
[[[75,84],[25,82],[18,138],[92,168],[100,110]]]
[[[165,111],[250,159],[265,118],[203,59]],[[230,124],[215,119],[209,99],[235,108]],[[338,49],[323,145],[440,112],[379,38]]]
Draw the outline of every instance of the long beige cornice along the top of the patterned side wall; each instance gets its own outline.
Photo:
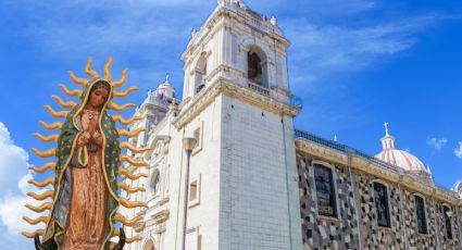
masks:
[[[401,186],[419,191],[422,195],[432,196],[434,195],[436,199],[453,204],[461,205],[462,199],[458,199],[448,191],[439,188],[429,183],[423,183],[421,179],[417,179],[405,173],[397,173],[391,170],[385,168],[382,165],[378,165],[374,161],[369,161],[367,159],[349,155],[347,153],[339,152],[335,149],[324,147],[322,145],[315,143],[313,141],[305,140],[303,138],[297,138],[296,150],[301,153],[307,153],[313,155],[317,159],[322,159],[328,162],[336,164],[351,166],[354,170],[361,171],[374,175],[376,177],[383,178],[385,180],[400,184]]]

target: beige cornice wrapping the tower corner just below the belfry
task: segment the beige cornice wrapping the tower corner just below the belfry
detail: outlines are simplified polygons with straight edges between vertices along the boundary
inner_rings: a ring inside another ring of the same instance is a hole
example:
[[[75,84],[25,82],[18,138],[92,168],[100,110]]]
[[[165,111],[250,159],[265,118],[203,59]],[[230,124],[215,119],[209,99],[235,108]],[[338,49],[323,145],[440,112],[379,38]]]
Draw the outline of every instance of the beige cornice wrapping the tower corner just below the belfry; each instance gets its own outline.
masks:
[[[180,128],[189,123],[221,93],[276,114],[284,113],[295,116],[300,112],[300,108],[284,103],[275,98],[259,93],[250,88],[220,77],[209,88],[203,90],[203,92],[196,96],[186,110],[182,110],[173,121],[174,126]]]

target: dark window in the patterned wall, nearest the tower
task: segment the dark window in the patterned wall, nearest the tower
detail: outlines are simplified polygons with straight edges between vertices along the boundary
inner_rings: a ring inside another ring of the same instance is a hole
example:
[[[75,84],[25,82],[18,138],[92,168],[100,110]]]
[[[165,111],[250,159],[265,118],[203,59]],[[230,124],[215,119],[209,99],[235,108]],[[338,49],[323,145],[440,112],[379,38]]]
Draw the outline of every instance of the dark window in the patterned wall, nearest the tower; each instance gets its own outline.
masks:
[[[322,164],[313,164],[316,187],[317,214],[337,217],[337,196],[333,170]]]

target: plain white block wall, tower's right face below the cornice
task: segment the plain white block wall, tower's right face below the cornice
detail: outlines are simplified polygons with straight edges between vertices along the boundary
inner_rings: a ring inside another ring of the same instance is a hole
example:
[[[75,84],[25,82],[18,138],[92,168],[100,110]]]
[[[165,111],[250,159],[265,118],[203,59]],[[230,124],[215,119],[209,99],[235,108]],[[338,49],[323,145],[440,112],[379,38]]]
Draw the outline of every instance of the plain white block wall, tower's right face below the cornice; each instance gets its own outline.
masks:
[[[220,249],[290,249],[280,120],[223,98]]]

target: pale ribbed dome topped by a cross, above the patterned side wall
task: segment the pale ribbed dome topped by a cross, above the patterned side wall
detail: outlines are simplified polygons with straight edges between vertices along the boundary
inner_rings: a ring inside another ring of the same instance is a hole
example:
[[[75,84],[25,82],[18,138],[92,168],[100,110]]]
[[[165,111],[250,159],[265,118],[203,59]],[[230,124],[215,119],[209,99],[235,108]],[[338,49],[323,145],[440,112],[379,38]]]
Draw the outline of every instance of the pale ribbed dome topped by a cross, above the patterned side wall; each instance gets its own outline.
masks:
[[[385,123],[385,137],[382,139],[383,150],[375,158],[391,165],[401,167],[404,171],[430,175],[429,168],[427,170],[419,158],[404,150],[395,147],[396,138],[388,134],[388,123]]]

